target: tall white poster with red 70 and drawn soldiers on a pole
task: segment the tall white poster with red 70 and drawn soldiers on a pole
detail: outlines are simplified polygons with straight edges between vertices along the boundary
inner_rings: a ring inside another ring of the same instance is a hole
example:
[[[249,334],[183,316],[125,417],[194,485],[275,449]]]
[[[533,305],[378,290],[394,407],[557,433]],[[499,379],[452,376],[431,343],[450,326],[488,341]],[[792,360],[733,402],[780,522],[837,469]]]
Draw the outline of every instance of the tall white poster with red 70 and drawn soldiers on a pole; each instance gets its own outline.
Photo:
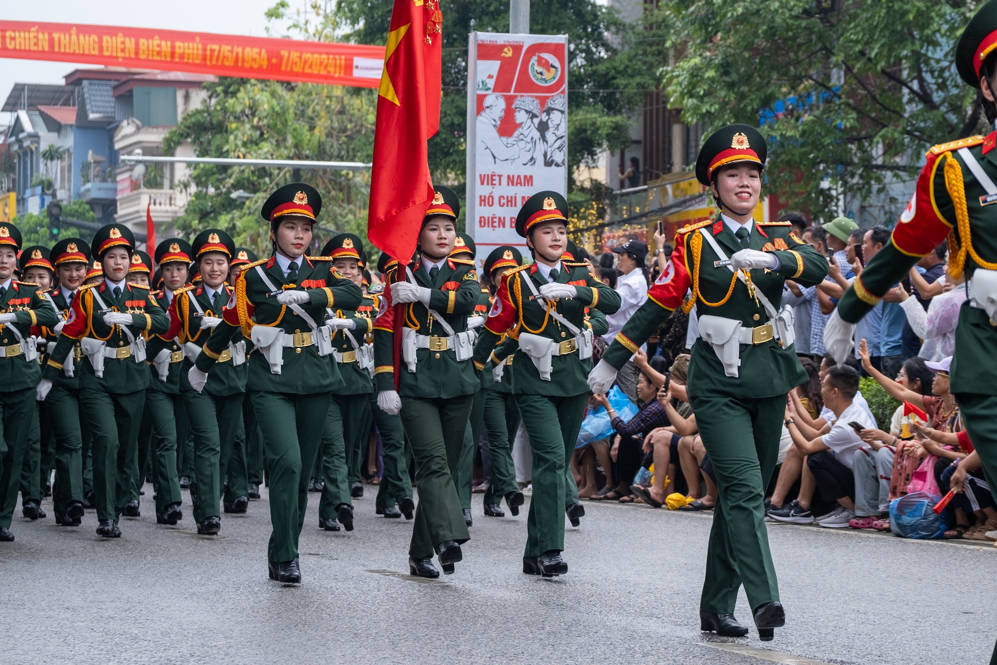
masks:
[[[468,63],[467,229],[479,263],[529,253],[515,216],[531,195],[567,195],[567,35],[473,32]]]

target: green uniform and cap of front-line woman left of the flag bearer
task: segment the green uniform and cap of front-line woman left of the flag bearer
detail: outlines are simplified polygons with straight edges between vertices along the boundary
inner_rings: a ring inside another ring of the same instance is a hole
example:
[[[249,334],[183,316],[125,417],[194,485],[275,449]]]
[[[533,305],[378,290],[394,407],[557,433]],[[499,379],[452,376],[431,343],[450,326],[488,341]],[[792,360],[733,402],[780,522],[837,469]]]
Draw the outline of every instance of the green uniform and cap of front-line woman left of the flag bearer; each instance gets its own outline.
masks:
[[[291,183],[270,195],[261,215],[276,232],[285,218],[314,221],[321,207],[314,188]],[[274,254],[245,266],[232,302],[222,310],[222,322],[195,363],[199,372],[209,371],[240,332],[255,343],[247,357],[246,386],[263,435],[270,477],[269,572],[272,579],[284,582],[301,580],[298,536],[308,507],[308,479],[330,394],[344,386],[336,364],[319,354],[323,315],[326,308],[356,310],[362,298],[360,289],[332,270],[330,263],[303,256],[291,261]]]

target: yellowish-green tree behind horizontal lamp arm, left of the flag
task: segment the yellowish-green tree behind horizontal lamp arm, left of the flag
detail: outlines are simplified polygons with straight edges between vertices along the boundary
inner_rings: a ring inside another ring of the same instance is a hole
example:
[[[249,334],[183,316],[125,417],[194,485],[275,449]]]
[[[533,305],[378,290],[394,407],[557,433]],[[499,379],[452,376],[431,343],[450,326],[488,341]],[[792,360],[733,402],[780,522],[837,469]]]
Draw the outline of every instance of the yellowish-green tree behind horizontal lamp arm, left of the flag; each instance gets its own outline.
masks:
[[[339,86],[221,79],[204,86],[202,106],[166,135],[171,153],[189,141],[198,156],[370,162],[375,92]],[[192,238],[207,227],[229,232],[236,244],[270,253],[269,227],[259,210],[277,187],[293,182],[290,169],[197,165],[184,184],[191,192],[177,230]],[[334,233],[366,235],[369,174],[305,171],[298,176],[322,193],[317,247]],[[247,201],[232,199],[243,191]]]

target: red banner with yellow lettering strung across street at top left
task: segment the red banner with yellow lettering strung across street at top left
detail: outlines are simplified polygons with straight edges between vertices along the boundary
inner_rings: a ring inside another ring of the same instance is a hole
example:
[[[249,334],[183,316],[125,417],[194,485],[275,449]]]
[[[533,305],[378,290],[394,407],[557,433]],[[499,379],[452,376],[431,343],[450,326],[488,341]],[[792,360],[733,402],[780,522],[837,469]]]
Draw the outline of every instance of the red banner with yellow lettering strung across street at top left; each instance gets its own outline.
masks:
[[[82,23],[0,21],[0,58],[377,88],[384,47]]]

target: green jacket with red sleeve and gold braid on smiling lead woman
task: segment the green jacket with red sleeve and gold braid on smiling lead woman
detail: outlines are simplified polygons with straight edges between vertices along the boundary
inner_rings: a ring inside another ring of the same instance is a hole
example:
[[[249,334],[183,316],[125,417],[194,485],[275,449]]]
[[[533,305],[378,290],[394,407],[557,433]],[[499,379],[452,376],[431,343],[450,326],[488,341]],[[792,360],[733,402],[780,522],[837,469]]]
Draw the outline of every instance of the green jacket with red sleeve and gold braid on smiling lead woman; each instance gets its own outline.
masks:
[[[765,308],[751,298],[748,287],[740,280],[734,285],[730,298],[723,302],[734,274],[728,267],[716,264],[721,259],[710,243],[702,238],[701,230],[713,237],[728,259],[744,249],[722,220],[702,222],[680,230],[675,238],[675,252],[666,270],[648,292],[647,302],[634,313],[602,354],[606,362],[617,369],[622,367],[681,305],[689,289],[695,288],[694,279],[699,289],[697,316],[736,319],[749,329],[769,322]],[[820,284],[828,275],[828,259],[791,231],[789,222],[770,222],[756,223],[751,232],[750,249],[773,252],[781,262],[781,266],[774,271],[751,271],[755,288],[768,297],[777,311],[782,304],[786,280],[810,287]],[[797,357],[794,344],[784,347],[775,339],[770,339],[759,344],[741,344],[740,350],[738,376],[728,376],[713,347],[702,338],[697,339],[689,362],[689,394],[771,397],[786,394],[807,380],[807,372]]]

